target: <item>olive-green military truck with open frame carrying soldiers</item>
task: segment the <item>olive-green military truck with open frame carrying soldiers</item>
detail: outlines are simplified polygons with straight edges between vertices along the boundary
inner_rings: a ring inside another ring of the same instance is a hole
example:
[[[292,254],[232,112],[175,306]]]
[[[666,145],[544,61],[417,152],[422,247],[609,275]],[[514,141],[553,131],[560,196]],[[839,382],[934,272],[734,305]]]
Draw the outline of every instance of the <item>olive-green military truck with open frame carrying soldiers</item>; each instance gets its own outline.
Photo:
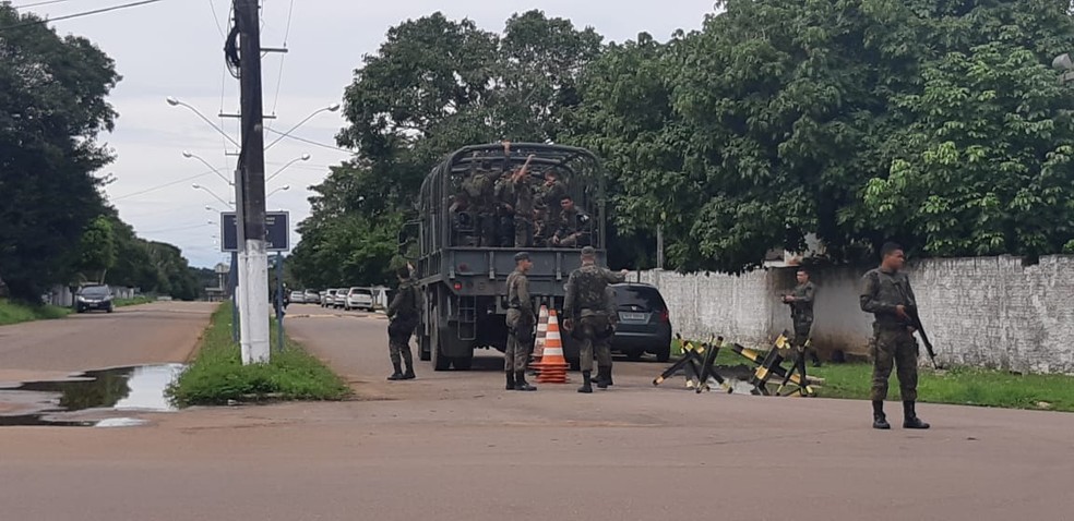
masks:
[[[588,218],[584,243],[524,249],[514,247],[513,242],[485,244],[475,240],[475,234],[481,233],[474,226],[479,213],[473,206],[453,207],[453,203],[465,199],[465,182],[476,172],[492,170],[501,175],[523,166],[530,155],[527,175],[538,190],[535,201],[540,198],[546,172],[556,172]],[[433,168],[421,185],[420,217],[401,235],[404,249],[409,246],[408,257],[423,296],[416,331],[420,359],[431,361],[437,371],[465,371],[470,368],[475,349],[505,350],[506,278],[520,251],[528,252],[533,262],[529,291],[535,308],[544,304],[561,311],[566,279],[581,266],[582,246],[592,245],[598,260],[605,259],[604,183],[600,161],[590,152],[539,143],[513,143],[509,153],[500,143],[467,146]],[[576,369],[578,346],[570,335],[564,332],[563,337],[564,354]]]

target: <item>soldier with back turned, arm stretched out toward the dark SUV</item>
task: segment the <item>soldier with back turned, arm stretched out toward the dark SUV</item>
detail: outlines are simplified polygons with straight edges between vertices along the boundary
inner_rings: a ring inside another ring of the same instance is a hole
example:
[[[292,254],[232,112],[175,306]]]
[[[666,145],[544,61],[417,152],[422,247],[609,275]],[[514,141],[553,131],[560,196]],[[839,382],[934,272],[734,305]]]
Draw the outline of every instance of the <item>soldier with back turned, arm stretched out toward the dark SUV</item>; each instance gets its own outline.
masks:
[[[608,284],[626,281],[626,270],[613,274],[596,265],[597,252],[593,246],[582,249],[582,267],[571,272],[563,300],[563,328],[577,328],[574,337],[582,341],[582,387],[578,392],[593,392],[593,358],[597,358],[597,387],[608,388],[611,381],[612,317],[608,316],[611,303]]]

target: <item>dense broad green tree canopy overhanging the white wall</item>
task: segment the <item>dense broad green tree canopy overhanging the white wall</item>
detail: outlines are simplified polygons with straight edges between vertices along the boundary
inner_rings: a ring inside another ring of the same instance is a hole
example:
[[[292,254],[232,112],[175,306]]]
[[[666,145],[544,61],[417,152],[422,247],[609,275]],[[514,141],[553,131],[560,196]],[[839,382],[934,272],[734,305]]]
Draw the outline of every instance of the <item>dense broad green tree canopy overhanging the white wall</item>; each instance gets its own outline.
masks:
[[[616,156],[619,223],[663,221],[679,269],[741,271],[809,233],[843,259],[892,237],[932,254],[1070,239],[1071,98],[1043,65],[1074,44],[1069,2],[720,3],[701,32],[609,49],[575,120]]]

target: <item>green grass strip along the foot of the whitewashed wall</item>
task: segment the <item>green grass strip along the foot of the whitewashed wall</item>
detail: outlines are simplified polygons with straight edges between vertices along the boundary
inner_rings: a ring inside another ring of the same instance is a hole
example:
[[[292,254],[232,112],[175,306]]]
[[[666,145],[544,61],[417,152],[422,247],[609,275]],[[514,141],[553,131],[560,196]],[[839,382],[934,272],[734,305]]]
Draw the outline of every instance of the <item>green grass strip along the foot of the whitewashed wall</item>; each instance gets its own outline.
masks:
[[[680,351],[672,346],[672,352]],[[716,358],[723,367],[745,365],[752,362],[723,349]],[[784,367],[788,365],[784,363]],[[823,378],[815,388],[821,398],[868,400],[872,381],[872,365],[867,363],[808,366],[806,373]],[[888,385],[887,399],[898,401],[898,379],[894,373]],[[1005,409],[1031,409],[1074,412],[1074,377],[1065,375],[1022,375],[1007,371],[952,367],[933,371],[921,367],[918,372],[918,401],[956,405],[998,407]]]

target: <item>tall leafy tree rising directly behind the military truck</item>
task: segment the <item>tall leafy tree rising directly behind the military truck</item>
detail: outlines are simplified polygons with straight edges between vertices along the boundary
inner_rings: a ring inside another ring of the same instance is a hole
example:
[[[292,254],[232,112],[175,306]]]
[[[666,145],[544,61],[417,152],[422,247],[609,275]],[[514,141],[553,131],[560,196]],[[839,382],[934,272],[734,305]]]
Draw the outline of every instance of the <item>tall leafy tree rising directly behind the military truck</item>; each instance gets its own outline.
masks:
[[[391,280],[399,227],[421,182],[454,149],[500,138],[558,141],[600,36],[539,11],[503,34],[441,13],[391,28],[345,92],[337,136],[356,159],[314,187],[291,258],[306,286]]]

